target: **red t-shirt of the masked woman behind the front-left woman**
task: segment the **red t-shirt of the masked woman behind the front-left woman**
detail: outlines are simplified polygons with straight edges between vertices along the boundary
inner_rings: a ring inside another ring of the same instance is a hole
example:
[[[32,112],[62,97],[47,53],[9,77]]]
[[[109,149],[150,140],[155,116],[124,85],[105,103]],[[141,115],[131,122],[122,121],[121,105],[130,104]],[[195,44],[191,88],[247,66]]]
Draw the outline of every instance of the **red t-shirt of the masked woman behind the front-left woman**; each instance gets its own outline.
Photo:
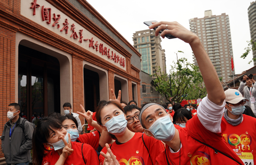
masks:
[[[82,135],[79,135],[79,138],[77,138],[77,140],[81,143],[86,143],[92,146],[95,150],[97,150],[99,146],[100,133],[99,131],[84,133]]]

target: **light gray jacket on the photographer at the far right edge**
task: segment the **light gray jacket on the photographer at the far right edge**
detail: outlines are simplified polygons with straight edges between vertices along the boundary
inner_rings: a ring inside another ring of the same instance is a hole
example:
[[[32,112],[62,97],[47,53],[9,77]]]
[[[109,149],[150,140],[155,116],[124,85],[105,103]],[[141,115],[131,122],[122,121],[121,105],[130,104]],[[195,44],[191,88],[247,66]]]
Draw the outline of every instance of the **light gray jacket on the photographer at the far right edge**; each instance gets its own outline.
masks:
[[[248,99],[249,102],[246,102],[245,105],[248,105],[249,107],[251,107],[251,101],[250,101],[250,90],[248,88],[248,86],[246,85],[246,83],[243,83],[243,81],[240,82],[239,88],[238,88],[239,92],[242,93],[243,97]],[[256,83],[252,84],[252,96],[254,98],[256,98]],[[253,103],[254,107],[256,108],[256,103]],[[256,109],[252,109],[253,113],[256,114]]]

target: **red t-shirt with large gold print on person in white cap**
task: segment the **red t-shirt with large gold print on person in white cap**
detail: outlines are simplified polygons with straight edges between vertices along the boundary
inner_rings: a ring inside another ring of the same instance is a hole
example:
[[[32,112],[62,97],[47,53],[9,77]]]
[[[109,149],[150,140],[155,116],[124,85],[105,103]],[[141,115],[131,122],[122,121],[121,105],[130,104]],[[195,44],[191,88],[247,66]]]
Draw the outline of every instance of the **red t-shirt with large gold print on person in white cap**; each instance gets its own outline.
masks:
[[[224,140],[242,159],[244,164],[256,165],[256,119],[243,115],[243,121],[237,126],[232,126],[223,117],[227,129],[223,133]]]

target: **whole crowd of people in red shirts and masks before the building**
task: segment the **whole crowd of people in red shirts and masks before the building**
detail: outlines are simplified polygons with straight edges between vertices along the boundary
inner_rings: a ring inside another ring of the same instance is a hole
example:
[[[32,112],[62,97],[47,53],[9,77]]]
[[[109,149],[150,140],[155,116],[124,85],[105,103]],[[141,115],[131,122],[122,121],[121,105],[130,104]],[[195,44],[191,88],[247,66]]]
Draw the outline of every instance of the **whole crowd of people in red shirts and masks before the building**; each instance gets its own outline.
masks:
[[[177,22],[153,23],[161,36],[171,34],[189,43],[201,70],[207,96],[200,104],[145,103],[101,100],[96,112],[59,113],[41,117],[35,127],[19,116],[17,103],[8,105],[1,137],[8,165],[256,165],[255,81],[247,76],[238,90],[224,92],[200,39]],[[248,93],[249,92],[249,93]],[[139,108],[140,107],[140,108]],[[88,122],[82,131],[79,115]]]

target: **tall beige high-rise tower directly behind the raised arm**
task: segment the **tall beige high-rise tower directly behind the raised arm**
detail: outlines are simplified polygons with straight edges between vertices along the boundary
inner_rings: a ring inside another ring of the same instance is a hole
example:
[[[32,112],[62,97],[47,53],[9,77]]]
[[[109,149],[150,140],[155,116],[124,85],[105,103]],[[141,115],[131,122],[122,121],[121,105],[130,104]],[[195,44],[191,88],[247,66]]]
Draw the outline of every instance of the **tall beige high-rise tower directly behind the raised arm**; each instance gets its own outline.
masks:
[[[204,11],[204,18],[192,18],[189,20],[189,25],[191,32],[197,34],[200,38],[218,76],[222,77],[223,82],[231,80],[231,56],[233,58],[233,48],[229,16],[225,13],[212,15],[212,10],[206,10]],[[198,66],[194,54],[193,61]]]

